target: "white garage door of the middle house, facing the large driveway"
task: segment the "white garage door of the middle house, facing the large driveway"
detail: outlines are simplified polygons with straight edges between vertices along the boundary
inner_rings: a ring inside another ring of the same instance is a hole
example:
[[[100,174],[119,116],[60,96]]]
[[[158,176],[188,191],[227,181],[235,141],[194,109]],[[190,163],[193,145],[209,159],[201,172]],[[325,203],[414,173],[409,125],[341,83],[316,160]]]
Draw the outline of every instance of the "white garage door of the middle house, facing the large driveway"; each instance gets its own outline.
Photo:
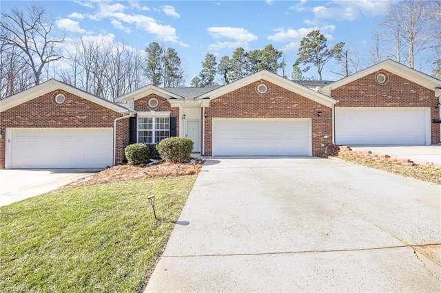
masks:
[[[311,120],[214,118],[213,155],[311,155]]]

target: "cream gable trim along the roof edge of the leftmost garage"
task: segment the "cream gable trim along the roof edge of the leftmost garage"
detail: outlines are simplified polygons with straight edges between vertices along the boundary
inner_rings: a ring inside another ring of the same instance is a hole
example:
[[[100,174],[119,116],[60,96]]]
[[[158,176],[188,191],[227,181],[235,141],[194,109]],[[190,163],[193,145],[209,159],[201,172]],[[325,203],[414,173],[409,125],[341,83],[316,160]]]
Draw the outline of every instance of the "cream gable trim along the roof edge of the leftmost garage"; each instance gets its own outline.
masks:
[[[48,94],[56,89],[62,89],[63,91],[67,91],[70,94],[74,94],[75,96],[79,96],[80,98],[84,98],[85,100],[90,100],[90,102],[94,102],[95,104],[101,105],[107,109],[119,113],[132,112],[131,110],[121,105],[117,105],[114,102],[110,102],[109,100],[98,98],[92,94],[82,91],[81,89],[77,89],[76,87],[72,87],[71,85],[61,83],[61,81],[54,79],[50,79],[48,81],[45,81],[44,83],[40,83],[39,85],[35,85],[34,87],[25,89],[24,91],[21,91],[18,94],[14,94],[13,96],[0,100],[0,112],[6,111],[8,109],[12,109],[13,107],[21,105],[30,100],[33,100],[34,98],[39,98],[40,96],[43,96],[44,94]]]

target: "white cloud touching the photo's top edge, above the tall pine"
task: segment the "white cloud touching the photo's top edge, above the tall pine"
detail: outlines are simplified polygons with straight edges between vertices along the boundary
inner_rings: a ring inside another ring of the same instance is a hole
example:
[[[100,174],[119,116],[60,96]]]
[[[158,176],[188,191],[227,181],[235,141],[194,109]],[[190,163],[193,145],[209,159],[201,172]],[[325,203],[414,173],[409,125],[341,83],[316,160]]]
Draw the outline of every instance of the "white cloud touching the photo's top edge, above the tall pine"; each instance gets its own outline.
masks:
[[[316,6],[313,8],[315,17],[319,19],[336,19],[353,21],[360,16],[375,17],[385,14],[390,1],[378,0],[334,0],[334,5]]]

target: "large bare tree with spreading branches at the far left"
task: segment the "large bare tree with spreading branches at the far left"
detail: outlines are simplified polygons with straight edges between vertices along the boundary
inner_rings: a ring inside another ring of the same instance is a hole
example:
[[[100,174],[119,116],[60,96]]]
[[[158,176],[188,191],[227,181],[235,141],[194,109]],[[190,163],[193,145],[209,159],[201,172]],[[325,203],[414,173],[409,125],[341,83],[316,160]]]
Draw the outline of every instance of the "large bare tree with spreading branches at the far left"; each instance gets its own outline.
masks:
[[[45,65],[63,58],[57,45],[63,43],[65,36],[61,39],[53,36],[54,21],[45,18],[43,6],[30,6],[28,14],[14,8],[9,14],[2,12],[1,17],[0,40],[24,53],[21,56],[32,69],[34,83],[38,85]]]

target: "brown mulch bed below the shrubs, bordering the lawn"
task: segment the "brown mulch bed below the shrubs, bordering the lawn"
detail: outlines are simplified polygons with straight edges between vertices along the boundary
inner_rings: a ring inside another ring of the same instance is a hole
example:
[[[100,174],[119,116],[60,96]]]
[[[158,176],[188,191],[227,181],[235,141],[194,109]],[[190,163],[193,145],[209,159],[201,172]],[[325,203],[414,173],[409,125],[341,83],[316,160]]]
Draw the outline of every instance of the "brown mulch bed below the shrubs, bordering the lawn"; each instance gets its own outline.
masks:
[[[150,164],[116,165],[107,168],[99,173],[71,182],[61,188],[91,186],[96,184],[106,184],[138,180],[143,178],[156,178],[167,176],[185,176],[198,174],[205,160],[192,159],[187,164],[174,164],[169,162],[152,162]]]

